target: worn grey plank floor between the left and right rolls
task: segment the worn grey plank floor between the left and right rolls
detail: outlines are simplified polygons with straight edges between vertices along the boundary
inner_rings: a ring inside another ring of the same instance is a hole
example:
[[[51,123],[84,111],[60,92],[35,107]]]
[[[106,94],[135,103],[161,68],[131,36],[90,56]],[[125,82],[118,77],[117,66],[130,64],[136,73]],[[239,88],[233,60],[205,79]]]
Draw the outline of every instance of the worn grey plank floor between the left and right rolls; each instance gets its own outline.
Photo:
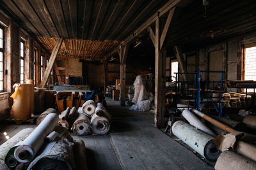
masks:
[[[111,131],[104,136],[76,136],[86,145],[88,169],[213,169],[177,141],[154,127],[154,114],[130,111],[118,101],[106,99],[113,115]],[[12,137],[21,129],[35,125],[0,125]]]

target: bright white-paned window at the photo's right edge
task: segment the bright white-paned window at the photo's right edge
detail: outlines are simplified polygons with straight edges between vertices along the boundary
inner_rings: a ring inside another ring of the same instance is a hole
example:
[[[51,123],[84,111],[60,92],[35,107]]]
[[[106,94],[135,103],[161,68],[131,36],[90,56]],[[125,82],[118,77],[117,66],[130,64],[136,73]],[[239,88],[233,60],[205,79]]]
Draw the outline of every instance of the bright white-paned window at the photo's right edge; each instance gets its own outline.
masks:
[[[244,80],[256,80],[256,46],[245,48]],[[253,89],[248,89],[253,92]]]

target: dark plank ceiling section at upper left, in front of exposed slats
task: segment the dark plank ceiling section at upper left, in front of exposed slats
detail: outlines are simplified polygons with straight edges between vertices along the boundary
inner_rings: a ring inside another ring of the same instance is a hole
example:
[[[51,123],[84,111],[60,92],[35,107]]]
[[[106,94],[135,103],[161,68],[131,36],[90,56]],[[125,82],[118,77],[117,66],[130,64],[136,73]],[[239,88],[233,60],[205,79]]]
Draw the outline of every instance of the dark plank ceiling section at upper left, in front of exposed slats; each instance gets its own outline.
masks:
[[[8,12],[38,37],[120,41],[167,0],[2,0]]]

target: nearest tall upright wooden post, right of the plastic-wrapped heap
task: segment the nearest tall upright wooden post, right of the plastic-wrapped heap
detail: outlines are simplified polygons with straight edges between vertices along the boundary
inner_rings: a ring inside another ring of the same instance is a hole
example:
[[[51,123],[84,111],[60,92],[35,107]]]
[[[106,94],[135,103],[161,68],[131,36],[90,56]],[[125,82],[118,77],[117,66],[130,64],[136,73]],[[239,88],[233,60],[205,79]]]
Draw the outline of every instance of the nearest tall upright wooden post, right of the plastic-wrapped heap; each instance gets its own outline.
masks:
[[[156,18],[155,35],[155,127],[164,127],[164,84],[166,51],[160,50],[159,18]],[[164,67],[164,69],[163,69]]]

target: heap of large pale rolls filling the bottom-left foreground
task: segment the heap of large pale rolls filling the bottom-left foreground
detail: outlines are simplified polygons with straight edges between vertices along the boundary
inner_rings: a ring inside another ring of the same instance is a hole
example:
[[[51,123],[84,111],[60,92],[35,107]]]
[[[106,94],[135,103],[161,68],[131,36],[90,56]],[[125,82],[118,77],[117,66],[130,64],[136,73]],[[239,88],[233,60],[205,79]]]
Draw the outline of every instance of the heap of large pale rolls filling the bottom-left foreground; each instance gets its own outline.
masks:
[[[84,142],[74,141],[58,120],[58,114],[49,113],[35,129],[24,129],[3,143],[0,169],[86,170]]]

